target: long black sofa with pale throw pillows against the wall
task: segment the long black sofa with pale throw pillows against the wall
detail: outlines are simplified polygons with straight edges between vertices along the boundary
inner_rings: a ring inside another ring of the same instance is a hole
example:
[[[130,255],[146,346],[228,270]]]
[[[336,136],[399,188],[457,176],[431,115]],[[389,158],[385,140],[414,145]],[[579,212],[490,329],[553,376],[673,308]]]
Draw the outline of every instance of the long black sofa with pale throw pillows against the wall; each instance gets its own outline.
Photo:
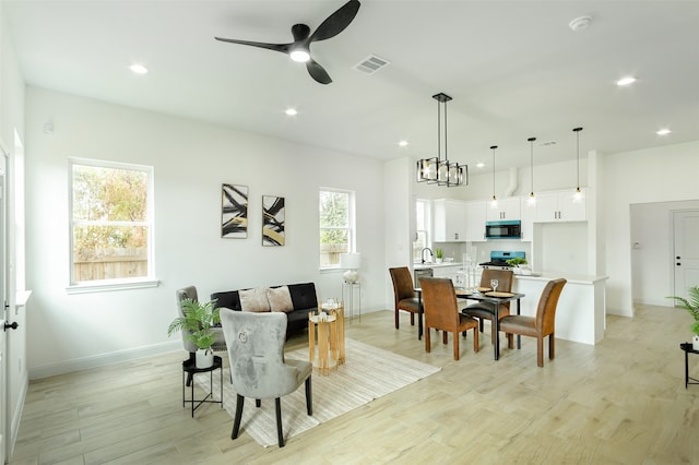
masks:
[[[268,286],[270,288],[279,288],[280,286]],[[316,295],[316,285],[313,283],[288,284],[288,291],[292,297],[294,309],[285,312],[287,318],[286,338],[289,335],[303,332],[308,327],[308,313],[318,310],[318,296]],[[230,310],[241,311],[240,290],[225,290],[213,293],[211,299],[216,299],[216,307],[225,307]]]

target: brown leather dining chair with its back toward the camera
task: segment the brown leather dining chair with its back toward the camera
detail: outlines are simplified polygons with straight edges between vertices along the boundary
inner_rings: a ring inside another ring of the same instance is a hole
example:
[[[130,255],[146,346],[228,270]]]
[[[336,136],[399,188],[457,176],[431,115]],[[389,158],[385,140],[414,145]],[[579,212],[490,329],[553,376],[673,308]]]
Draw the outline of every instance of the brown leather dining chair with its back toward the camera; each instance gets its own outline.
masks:
[[[431,349],[429,330],[433,327],[443,332],[443,344],[447,344],[448,333],[453,333],[454,360],[459,360],[459,334],[471,329],[473,329],[473,351],[478,351],[478,322],[459,312],[457,293],[451,279],[424,277],[419,282],[425,308],[425,351],[429,353]]]

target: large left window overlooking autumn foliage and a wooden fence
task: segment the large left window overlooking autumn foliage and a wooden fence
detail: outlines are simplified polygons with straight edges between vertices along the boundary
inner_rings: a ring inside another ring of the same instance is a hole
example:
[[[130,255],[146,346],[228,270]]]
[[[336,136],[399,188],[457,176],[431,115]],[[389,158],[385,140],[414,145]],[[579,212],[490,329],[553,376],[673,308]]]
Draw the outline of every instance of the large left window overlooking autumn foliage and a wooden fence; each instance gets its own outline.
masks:
[[[153,169],[70,160],[71,286],[118,286],[154,276]]]

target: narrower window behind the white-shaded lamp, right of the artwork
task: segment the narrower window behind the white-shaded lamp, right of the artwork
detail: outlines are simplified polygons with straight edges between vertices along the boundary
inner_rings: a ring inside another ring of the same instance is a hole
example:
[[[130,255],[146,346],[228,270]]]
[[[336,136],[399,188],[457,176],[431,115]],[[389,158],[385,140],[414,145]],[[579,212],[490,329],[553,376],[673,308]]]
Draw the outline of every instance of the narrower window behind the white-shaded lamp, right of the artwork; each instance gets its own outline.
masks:
[[[340,266],[355,251],[354,192],[324,189],[319,195],[320,267]]]

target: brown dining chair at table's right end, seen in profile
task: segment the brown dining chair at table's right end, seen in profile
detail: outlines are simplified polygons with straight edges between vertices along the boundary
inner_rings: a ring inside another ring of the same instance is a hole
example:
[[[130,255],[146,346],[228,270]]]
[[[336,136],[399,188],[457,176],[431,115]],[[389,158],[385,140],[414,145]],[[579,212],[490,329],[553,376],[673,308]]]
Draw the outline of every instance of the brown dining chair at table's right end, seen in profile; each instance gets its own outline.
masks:
[[[507,334],[508,348],[513,347],[512,335],[536,337],[536,365],[544,366],[544,337],[548,336],[548,358],[553,360],[556,348],[556,308],[566,279],[552,279],[542,290],[536,317],[511,314],[500,319],[500,331]]]

